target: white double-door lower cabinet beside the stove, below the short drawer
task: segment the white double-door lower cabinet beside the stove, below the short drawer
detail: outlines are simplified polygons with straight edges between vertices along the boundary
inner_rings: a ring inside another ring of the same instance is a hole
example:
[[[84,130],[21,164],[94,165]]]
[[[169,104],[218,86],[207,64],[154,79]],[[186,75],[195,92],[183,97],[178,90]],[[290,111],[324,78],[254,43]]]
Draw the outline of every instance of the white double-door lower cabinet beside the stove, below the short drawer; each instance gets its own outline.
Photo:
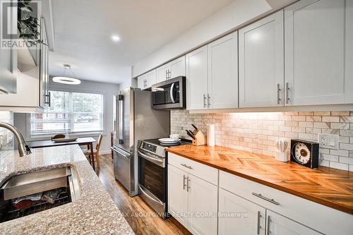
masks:
[[[217,234],[217,194],[213,183],[168,164],[168,212],[192,234]]]

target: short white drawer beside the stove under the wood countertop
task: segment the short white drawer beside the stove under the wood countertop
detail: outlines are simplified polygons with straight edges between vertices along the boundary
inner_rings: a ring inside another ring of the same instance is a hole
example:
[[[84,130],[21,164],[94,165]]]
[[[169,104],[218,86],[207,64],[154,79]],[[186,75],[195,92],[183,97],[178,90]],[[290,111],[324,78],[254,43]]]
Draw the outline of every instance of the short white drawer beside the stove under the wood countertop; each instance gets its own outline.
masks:
[[[189,174],[198,176],[198,178],[218,185],[218,169],[208,167],[205,164],[195,162],[186,157],[175,155],[172,152],[168,152],[168,163],[188,172]]]

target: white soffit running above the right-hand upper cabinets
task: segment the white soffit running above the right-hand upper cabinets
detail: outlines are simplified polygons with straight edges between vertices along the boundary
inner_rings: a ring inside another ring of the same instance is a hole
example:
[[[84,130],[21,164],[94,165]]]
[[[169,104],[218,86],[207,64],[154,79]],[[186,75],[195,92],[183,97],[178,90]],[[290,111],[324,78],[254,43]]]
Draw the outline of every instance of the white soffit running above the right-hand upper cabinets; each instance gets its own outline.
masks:
[[[161,49],[133,65],[133,77],[190,52],[202,44],[240,28],[266,14],[277,11],[296,0],[236,0],[213,16],[184,32]],[[181,19],[183,20],[183,19]]]

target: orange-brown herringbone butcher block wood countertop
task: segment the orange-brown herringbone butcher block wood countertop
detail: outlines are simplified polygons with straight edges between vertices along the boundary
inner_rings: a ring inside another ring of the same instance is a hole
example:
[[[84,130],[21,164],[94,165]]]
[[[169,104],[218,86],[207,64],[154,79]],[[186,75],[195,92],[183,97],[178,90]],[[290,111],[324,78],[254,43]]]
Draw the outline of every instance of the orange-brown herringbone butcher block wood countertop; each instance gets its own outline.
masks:
[[[229,147],[181,145],[167,151],[353,215],[353,172],[309,169]]]

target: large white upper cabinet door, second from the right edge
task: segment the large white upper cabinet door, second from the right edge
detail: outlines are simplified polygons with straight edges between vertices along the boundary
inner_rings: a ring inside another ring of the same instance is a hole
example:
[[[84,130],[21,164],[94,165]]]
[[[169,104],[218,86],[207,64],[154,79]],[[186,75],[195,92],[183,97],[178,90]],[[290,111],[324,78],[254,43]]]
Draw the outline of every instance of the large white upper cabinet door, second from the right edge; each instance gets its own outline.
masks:
[[[283,105],[283,11],[239,30],[239,107]]]

